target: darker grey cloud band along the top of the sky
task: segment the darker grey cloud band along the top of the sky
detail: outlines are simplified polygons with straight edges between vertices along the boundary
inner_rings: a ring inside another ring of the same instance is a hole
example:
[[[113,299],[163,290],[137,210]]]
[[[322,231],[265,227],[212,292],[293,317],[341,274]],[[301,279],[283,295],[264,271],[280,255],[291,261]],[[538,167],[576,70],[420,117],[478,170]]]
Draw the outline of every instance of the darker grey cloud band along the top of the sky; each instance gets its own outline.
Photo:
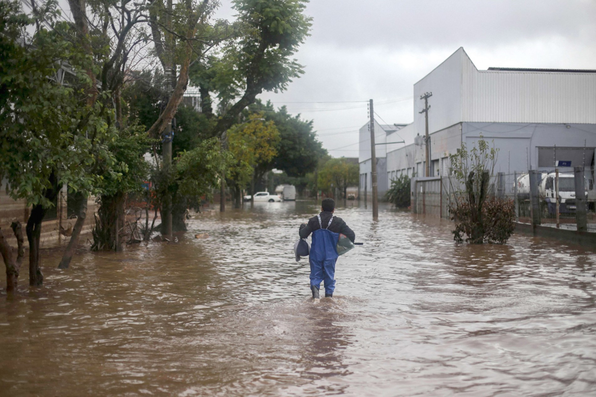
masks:
[[[313,42],[457,48],[462,41],[495,44],[557,35],[588,40],[595,32],[596,2],[312,0],[307,12],[315,21]]]

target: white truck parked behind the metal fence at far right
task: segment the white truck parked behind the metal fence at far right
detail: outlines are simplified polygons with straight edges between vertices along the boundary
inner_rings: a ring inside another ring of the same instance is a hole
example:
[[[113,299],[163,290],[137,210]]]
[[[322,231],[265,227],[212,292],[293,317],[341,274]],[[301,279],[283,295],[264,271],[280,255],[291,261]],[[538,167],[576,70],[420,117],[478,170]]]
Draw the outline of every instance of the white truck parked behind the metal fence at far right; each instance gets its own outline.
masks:
[[[555,190],[556,173],[539,173],[538,174],[538,195],[541,202],[545,204],[544,210],[548,214],[555,214],[557,211],[557,195]],[[530,201],[530,176],[529,174],[522,174],[517,178],[517,198],[520,202]],[[594,181],[585,176],[585,194],[588,200],[588,207],[594,205],[594,195],[591,194],[594,190]],[[558,176],[558,197],[559,197],[559,212],[561,214],[575,212],[575,176],[573,173],[559,173]]]

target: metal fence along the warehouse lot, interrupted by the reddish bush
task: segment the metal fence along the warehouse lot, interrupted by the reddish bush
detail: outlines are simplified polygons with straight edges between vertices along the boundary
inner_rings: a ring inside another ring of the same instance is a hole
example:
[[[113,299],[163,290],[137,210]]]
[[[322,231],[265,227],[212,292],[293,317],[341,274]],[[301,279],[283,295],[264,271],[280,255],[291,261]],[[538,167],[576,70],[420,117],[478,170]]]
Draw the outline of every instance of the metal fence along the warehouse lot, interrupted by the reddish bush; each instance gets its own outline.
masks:
[[[489,195],[513,200],[520,223],[596,232],[595,179],[592,167],[497,173],[491,179]],[[412,184],[414,212],[449,218],[452,190],[463,190],[455,185],[449,177],[416,179]]]

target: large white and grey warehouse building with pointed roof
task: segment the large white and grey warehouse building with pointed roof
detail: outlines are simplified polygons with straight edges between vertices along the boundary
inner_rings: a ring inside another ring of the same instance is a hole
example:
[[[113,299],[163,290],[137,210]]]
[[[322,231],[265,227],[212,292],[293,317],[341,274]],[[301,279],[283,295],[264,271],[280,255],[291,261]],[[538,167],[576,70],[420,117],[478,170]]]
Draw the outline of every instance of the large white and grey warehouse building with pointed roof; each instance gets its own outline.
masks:
[[[555,161],[594,166],[596,70],[491,67],[478,70],[458,49],[414,85],[414,122],[375,124],[378,192],[401,174],[424,176],[424,101],[429,98],[430,174],[445,176],[449,155],[480,136],[499,149],[495,172],[552,169]],[[390,143],[404,140],[405,143]],[[360,130],[360,189],[370,192],[370,131]],[[368,146],[367,146],[368,145]]]

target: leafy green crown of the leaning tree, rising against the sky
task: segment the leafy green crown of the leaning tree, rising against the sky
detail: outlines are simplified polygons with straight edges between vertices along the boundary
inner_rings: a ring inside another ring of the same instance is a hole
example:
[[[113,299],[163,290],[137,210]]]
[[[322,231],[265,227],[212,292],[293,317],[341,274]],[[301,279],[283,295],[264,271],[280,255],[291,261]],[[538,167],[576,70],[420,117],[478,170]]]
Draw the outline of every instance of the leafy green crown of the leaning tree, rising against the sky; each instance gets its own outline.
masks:
[[[216,78],[226,82],[214,88],[226,87],[219,89],[226,106],[214,127],[215,136],[234,125],[257,95],[284,91],[303,74],[293,56],[311,27],[311,18],[303,14],[305,4],[306,0],[234,0],[240,33],[223,46],[214,63]],[[228,106],[228,102],[234,103]]]

